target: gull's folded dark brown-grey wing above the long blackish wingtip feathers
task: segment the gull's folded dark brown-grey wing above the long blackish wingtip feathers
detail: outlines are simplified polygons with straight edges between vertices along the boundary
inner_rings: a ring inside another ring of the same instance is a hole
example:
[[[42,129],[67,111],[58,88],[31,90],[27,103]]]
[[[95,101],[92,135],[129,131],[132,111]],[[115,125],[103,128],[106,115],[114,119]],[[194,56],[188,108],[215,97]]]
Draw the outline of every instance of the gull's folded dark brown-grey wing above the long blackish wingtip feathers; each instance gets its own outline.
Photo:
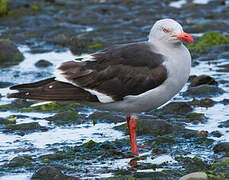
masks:
[[[147,43],[114,46],[93,54],[92,61],[68,61],[58,70],[80,88],[122,100],[156,88],[166,80],[164,56],[151,49]]]

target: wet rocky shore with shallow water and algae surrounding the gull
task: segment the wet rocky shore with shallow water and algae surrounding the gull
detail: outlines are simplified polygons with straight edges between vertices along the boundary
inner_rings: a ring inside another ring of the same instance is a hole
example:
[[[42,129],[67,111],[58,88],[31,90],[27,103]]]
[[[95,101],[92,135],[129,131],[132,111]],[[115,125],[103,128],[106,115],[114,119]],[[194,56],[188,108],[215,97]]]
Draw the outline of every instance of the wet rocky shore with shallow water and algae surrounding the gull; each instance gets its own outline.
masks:
[[[229,179],[229,2],[200,2],[0,0],[0,180]],[[6,98],[59,62],[147,40],[166,17],[193,34],[193,69],[176,98],[138,115],[137,141],[151,146],[141,156],[129,153],[123,114]]]

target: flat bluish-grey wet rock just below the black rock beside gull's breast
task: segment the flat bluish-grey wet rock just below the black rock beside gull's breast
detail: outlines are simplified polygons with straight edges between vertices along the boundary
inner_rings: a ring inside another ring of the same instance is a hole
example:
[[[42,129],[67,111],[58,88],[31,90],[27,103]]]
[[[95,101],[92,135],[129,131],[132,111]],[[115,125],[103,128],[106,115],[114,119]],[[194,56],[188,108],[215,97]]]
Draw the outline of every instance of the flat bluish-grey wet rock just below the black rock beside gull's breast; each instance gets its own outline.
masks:
[[[196,87],[190,87],[183,93],[186,96],[202,97],[202,96],[215,96],[223,94],[223,90],[215,85],[200,85]]]

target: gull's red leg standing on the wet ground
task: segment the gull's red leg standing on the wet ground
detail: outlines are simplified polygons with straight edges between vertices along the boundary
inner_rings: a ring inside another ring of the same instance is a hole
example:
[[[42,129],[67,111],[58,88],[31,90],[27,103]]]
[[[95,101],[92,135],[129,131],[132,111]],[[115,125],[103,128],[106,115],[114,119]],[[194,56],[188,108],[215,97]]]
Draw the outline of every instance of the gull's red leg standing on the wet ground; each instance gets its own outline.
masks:
[[[130,135],[130,147],[131,153],[138,155],[137,143],[136,143],[136,117],[135,116],[127,116],[126,117],[127,126]]]

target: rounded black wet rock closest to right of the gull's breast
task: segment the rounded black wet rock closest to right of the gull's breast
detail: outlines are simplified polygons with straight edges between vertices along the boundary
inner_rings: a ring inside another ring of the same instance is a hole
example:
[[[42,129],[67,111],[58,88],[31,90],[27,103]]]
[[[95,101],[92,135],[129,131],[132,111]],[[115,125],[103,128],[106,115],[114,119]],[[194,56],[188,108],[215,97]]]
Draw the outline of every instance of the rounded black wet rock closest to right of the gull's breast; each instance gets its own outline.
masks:
[[[217,82],[215,81],[214,78],[212,78],[210,76],[200,75],[200,76],[193,78],[190,86],[195,87],[195,86],[199,86],[202,84],[217,85]]]

